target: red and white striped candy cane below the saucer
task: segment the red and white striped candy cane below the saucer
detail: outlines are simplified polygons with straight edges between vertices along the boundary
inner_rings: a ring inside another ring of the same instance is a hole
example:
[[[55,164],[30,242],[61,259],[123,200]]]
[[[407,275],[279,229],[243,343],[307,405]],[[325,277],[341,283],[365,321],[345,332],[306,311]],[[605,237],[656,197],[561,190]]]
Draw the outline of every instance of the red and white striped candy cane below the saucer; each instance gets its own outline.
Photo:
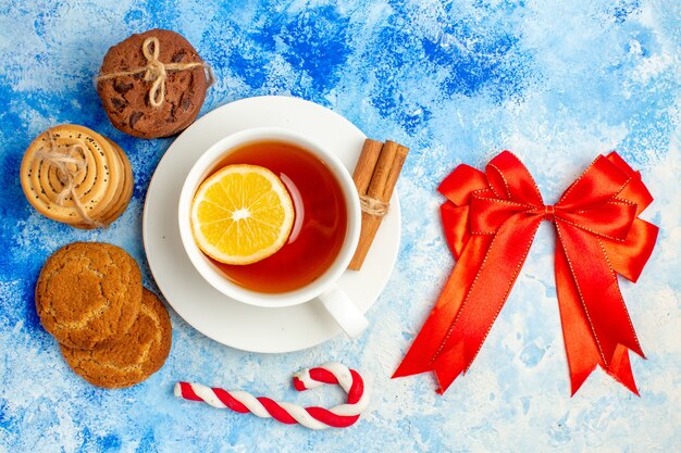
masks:
[[[200,383],[177,382],[175,397],[203,401],[213,407],[248,412],[262,418],[274,418],[284,424],[300,424],[310,429],[347,428],[355,424],[369,404],[369,394],[362,377],[355,369],[339,363],[327,363],[317,368],[304,369],[294,375],[298,391],[313,389],[322,383],[337,383],[348,394],[347,403],[332,408],[302,407],[293,403],[276,402],[265,397],[253,397],[244,391],[227,391]]]

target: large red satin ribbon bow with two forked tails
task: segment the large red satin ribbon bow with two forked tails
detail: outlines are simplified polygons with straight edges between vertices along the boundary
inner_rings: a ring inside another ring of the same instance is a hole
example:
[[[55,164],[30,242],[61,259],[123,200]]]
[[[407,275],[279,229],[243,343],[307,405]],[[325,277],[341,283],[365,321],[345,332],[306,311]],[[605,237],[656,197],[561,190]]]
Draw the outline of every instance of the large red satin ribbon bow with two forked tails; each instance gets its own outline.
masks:
[[[557,231],[556,290],[572,394],[596,365],[639,394],[629,350],[643,355],[617,276],[636,281],[658,228],[637,218],[653,201],[639,172],[616,152],[598,156],[555,205],[512,153],[486,173],[459,165],[438,190],[457,264],[393,377],[435,372],[443,393],[478,355],[542,221]]]

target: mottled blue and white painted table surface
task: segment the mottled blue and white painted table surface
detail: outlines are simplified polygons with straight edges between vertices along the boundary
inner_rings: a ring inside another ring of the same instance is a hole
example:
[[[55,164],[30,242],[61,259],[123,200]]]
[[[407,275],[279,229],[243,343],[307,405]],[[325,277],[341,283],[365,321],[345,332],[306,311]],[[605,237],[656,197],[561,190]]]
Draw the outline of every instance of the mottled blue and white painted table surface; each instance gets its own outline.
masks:
[[[0,452],[681,451],[681,3],[212,3],[0,1]],[[411,148],[397,187],[398,263],[359,340],[246,353],[171,311],[170,357],[145,382],[103,390],[66,366],[34,307],[48,255],[72,241],[112,242],[156,289],[141,213],[172,138],[114,129],[92,81],[110,46],[153,27],[179,32],[212,65],[216,83],[201,114],[252,96],[296,96]],[[24,198],[24,150],[60,123],[91,127],[131,158],[134,197],[108,229],[49,221]],[[442,397],[432,376],[389,379],[453,265],[435,189],[456,165],[482,167],[503,149],[523,160],[546,200],[612,149],[642,171],[656,199],[643,216],[660,236],[639,282],[621,282],[647,356],[632,356],[641,398],[599,369],[570,398],[547,223],[466,376]],[[195,380],[330,406],[342,402],[339,390],[298,394],[289,383],[294,372],[326,361],[360,369],[373,388],[368,412],[347,430],[311,431],[172,395],[175,381]]]

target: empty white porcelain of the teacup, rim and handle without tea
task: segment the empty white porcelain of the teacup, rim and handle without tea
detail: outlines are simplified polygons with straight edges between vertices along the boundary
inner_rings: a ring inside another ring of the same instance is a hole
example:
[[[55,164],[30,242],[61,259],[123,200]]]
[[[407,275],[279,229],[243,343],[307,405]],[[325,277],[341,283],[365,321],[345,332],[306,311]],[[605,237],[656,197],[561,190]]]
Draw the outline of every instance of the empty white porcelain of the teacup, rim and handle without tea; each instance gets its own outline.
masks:
[[[347,210],[345,240],[334,262],[314,281],[289,292],[258,292],[230,281],[201,252],[191,232],[190,206],[200,183],[214,168],[214,165],[235,148],[245,143],[265,140],[296,144],[325,162],[340,186]],[[368,326],[367,318],[337,286],[338,278],[350,263],[359,241],[361,229],[359,197],[350,174],[338,158],[309,138],[284,128],[260,127],[242,130],[218,141],[198,159],[185,179],[179,194],[178,221],[182,243],[194,267],[206,281],[225,295],[246,304],[268,309],[297,305],[319,299],[349,337],[359,336]]]

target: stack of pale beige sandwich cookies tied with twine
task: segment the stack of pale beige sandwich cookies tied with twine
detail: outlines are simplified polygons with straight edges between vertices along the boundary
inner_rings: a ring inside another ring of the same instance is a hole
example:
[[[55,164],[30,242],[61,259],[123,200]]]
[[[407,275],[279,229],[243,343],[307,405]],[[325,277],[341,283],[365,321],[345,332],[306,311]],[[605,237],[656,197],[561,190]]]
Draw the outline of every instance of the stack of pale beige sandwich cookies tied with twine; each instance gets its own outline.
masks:
[[[111,224],[133,194],[125,152],[73,124],[40,134],[26,150],[20,175],[26,198],[39,213],[77,228]]]

